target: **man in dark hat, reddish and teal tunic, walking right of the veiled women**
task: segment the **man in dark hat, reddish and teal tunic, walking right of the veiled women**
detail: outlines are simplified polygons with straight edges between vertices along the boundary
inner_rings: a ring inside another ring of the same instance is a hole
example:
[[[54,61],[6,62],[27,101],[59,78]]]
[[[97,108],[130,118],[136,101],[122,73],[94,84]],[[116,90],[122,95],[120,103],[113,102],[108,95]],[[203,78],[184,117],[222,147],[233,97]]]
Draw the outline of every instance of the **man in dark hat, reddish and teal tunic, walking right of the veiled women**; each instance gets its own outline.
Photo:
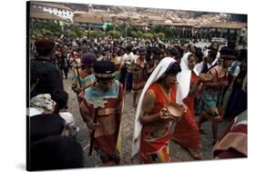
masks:
[[[232,65],[235,58],[235,51],[230,48],[222,48],[220,50],[220,58],[222,59],[221,66],[214,66],[207,73],[207,77],[200,76],[200,80],[204,83],[204,90],[202,92],[203,111],[200,115],[200,125],[207,119],[212,121],[212,134],[214,145],[217,141],[219,122],[223,118],[221,98],[223,95],[223,88],[229,85],[228,68]]]

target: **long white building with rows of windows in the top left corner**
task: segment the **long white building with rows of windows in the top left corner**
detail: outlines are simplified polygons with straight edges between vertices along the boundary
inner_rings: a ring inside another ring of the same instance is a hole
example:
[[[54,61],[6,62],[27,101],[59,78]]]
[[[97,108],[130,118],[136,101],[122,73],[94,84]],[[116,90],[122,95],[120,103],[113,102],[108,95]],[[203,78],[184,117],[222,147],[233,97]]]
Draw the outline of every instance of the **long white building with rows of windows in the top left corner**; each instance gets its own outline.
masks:
[[[65,5],[31,1],[34,8],[73,21],[73,11]]]

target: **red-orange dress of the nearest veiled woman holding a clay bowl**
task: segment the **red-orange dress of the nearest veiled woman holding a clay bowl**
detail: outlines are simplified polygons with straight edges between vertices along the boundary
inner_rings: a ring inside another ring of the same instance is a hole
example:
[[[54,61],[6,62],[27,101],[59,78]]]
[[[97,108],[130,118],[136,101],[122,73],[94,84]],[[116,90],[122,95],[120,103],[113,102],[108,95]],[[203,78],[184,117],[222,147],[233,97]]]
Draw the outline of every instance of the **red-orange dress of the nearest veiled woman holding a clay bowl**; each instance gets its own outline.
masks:
[[[171,87],[170,96],[164,94],[158,83],[151,85],[148,88],[148,92],[153,92],[156,95],[155,106],[149,113],[149,116],[158,114],[164,106],[167,106],[168,102],[175,102],[176,99],[175,86]],[[142,164],[170,161],[169,126],[170,122],[156,122],[142,127],[139,149]]]

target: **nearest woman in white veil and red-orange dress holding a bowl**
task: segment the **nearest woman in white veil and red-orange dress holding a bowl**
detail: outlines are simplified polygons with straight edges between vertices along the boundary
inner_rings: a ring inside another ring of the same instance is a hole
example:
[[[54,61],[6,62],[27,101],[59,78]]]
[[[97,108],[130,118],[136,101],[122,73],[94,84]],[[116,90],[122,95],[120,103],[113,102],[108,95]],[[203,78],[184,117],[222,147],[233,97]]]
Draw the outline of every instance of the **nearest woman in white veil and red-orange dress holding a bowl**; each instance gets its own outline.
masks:
[[[180,66],[171,57],[163,58],[148,78],[138,101],[132,142],[133,163],[169,162],[169,128],[174,116],[166,109],[176,102]]]

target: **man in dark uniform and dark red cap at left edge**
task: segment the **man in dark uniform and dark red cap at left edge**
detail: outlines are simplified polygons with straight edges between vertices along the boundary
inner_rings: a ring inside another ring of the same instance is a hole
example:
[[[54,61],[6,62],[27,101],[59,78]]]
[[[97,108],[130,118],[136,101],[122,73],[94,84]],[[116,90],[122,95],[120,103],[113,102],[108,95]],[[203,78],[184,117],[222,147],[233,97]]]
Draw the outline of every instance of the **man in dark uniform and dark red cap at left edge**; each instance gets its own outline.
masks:
[[[36,72],[38,76],[38,83],[30,97],[46,93],[53,96],[56,89],[63,90],[62,76],[52,63],[52,51],[55,43],[51,40],[41,39],[36,41],[35,46],[38,56],[31,59],[30,68],[36,70],[33,72]]]

